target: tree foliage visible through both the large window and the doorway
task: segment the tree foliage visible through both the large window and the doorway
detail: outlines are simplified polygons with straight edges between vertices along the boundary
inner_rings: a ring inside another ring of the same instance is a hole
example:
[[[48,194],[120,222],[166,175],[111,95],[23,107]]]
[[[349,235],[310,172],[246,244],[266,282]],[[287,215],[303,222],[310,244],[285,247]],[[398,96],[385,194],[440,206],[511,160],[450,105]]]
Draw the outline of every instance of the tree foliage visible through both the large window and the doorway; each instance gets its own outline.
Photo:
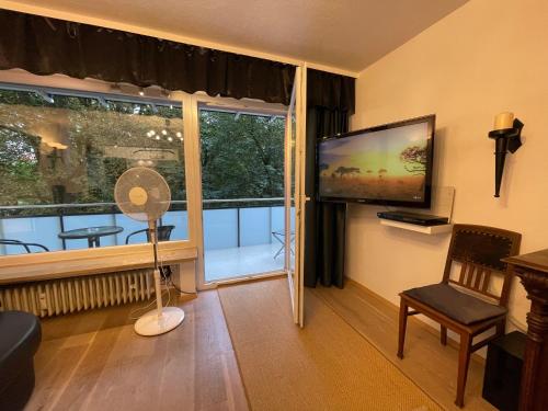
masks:
[[[183,132],[181,107],[106,103],[67,95],[49,103],[34,92],[0,90],[0,205],[112,203],[117,178],[136,165],[132,156],[116,155],[118,148],[170,152],[153,168],[168,181],[172,198],[185,201],[184,150],[175,137]],[[53,134],[68,149],[48,147],[47,127],[57,127]],[[156,139],[162,129],[171,140]],[[204,198],[284,195],[282,118],[202,111],[201,142]],[[112,209],[103,208],[80,212]]]

